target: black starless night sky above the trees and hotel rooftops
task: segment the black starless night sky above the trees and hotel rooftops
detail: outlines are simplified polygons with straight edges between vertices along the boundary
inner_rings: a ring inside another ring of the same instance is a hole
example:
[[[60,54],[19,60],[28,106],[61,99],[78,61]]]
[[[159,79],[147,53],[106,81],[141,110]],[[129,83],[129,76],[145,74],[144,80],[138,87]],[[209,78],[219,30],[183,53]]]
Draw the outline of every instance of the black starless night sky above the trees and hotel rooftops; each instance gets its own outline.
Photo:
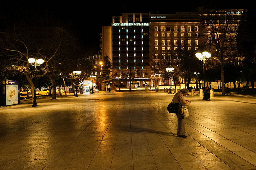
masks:
[[[121,16],[122,12],[159,11],[159,14],[175,14],[176,12],[195,11],[198,6],[209,6],[211,9],[248,9],[249,4],[234,3],[234,1],[3,1],[0,6],[1,31],[10,21],[58,21],[67,25],[75,32],[85,50],[99,50],[99,33],[102,25],[110,25],[112,16]],[[154,2],[154,3],[153,3]]]

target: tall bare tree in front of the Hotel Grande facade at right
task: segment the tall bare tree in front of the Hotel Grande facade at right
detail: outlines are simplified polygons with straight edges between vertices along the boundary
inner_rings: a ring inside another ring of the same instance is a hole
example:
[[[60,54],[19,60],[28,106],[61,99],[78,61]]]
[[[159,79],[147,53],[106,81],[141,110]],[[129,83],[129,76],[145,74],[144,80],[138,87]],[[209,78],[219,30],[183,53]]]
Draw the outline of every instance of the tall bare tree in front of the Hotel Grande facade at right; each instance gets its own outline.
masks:
[[[238,61],[236,38],[238,21],[242,11],[205,10],[202,14],[201,41],[204,46],[200,50],[211,52],[215,64],[221,70],[222,95],[225,95],[224,65],[230,61]],[[202,44],[202,43],[201,43]]]

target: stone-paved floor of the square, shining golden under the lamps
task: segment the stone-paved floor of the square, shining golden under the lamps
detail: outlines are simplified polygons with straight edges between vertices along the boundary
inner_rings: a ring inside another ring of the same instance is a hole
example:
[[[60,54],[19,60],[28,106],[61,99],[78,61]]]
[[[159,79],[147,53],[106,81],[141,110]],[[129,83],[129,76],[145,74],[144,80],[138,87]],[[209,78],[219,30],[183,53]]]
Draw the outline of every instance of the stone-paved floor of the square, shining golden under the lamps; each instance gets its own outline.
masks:
[[[256,98],[191,100],[187,138],[173,94],[111,92],[0,108],[0,169],[256,169]]]

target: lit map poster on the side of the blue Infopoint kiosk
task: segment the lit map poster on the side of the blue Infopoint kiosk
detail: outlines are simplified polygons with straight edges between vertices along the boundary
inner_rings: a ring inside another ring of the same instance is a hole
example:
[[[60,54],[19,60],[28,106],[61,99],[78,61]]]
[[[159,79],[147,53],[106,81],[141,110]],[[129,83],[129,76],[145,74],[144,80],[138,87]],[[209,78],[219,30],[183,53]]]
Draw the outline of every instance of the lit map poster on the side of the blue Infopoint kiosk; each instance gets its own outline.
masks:
[[[6,85],[6,106],[18,104],[18,85]]]

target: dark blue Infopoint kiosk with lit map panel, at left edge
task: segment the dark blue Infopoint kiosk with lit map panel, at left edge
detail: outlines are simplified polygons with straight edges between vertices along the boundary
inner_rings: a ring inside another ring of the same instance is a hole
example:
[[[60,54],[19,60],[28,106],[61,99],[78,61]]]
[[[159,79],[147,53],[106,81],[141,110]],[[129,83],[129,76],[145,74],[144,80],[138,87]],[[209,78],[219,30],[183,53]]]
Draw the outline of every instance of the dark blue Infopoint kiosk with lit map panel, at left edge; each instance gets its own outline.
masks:
[[[19,81],[1,80],[0,81],[0,105],[10,106],[20,104],[20,85]]]

